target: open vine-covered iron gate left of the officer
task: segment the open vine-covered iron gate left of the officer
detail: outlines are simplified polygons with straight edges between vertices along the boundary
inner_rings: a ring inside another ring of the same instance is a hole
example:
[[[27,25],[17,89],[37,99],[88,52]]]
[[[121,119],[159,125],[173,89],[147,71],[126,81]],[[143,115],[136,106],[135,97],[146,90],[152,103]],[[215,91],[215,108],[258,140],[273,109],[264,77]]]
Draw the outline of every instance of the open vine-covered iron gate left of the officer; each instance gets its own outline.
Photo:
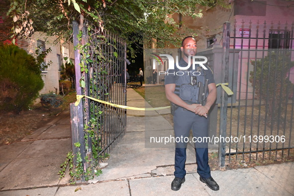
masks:
[[[91,97],[71,108],[73,153],[80,154],[82,168],[93,168],[125,133],[126,111],[111,104],[126,105],[126,44],[113,34],[102,35],[87,22],[82,30],[76,22],[73,26],[77,94]],[[80,164],[76,157],[74,161]]]

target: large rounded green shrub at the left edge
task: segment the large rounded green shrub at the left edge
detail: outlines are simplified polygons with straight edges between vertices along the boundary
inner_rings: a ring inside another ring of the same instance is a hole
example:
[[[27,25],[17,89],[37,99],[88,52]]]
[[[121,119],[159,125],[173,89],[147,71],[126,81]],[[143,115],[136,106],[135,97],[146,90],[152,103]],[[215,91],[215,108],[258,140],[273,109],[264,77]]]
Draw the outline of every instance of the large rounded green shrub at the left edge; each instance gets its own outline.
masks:
[[[0,110],[28,109],[44,86],[40,65],[14,45],[0,45],[0,57]]]

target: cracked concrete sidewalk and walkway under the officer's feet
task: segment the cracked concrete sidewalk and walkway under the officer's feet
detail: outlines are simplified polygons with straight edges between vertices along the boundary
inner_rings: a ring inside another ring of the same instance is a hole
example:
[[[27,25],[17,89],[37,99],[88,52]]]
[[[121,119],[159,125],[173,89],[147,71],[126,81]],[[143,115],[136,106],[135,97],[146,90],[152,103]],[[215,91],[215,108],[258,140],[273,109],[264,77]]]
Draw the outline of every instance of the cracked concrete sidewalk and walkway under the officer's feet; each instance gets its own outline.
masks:
[[[151,107],[133,89],[127,105]],[[214,192],[199,181],[195,150],[187,149],[186,182],[175,192],[174,148],[145,146],[146,135],[173,135],[160,115],[166,111],[127,111],[127,132],[110,152],[103,174],[89,184],[68,185],[57,175],[71,150],[69,111],[20,142],[0,147],[0,196],[190,196],[190,195],[294,195],[294,162],[227,171],[212,171],[219,184]],[[75,192],[76,189],[79,189]]]

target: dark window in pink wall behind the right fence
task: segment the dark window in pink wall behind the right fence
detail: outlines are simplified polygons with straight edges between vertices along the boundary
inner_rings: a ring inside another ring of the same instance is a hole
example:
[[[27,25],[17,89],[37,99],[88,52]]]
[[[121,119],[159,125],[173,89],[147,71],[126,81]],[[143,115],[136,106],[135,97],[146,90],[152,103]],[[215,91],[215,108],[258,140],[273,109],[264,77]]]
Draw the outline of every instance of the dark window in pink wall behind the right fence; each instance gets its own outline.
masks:
[[[289,49],[290,31],[271,30],[269,33],[270,49]]]

